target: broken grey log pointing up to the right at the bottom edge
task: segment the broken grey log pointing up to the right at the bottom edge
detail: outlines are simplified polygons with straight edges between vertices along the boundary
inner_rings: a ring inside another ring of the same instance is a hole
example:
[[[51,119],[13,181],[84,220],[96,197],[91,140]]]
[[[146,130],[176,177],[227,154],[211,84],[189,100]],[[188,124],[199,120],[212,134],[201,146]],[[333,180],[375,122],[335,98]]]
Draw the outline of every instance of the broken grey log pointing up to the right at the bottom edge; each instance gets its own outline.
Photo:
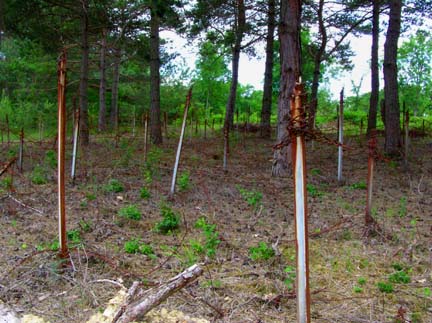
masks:
[[[202,273],[203,269],[195,264],[158,288],[146,291],[143,298],[126,305],[123,313],[118,319],[115,319],[113,323],[129,323],[142,318],[151,309],[161,304],[172,294],[195,281]]]

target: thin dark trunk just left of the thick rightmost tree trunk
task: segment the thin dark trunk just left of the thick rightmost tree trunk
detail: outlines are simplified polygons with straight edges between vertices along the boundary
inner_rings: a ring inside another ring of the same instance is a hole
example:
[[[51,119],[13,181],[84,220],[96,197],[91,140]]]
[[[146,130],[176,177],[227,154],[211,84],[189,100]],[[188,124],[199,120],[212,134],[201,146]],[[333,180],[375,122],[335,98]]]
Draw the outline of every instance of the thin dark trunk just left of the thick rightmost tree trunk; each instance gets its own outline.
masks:
[[[371,51],[371,96],[369,100],[369,117],[368,117],[368,136],[376,128],[376,119],[379,100],[379,65],[378,65],[378,46],[379,46],[379,10],[380,3],[377,0],[371,0],[373,6],[372,16],[372,51]]]

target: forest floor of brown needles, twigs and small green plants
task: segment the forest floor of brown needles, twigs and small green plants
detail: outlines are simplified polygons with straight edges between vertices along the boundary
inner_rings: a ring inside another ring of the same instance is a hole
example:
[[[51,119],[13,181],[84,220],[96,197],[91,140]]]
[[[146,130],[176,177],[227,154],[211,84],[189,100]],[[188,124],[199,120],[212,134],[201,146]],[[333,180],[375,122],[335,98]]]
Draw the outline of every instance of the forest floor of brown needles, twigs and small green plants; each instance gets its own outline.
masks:
[[[85,322],[119,284],[150,286],[199,262],[197,283],[161,307],[210,322],[295,322],[292,178],[271,177],[272,142],[234,135],[224,173],[220,137],[187,137],[180,190],[168,198],[176,138],[150,147],[147,163],[142,137],[123,136],[117,148],[113,138],[95,137],[80,152],[75,185],[66,187],[66,269],[55,251],[53,143],[26,144],[24,172],[15,170],[13,182],[0,178],[0,300],[52,323]],[[383,232],[369,237],[367,143],[346,142],[343,185],[337,147],[308,143],[312,321],[430,323],[432,140],[412,139],[408,171],[400,161],[378,161],[372,214]],[[3,144],[0,162],[11,150],[16,144]],[[134,206],[139,220],[128,218]],[[171,224],[177,214],[179,228],[157,232],[162,214]]]

